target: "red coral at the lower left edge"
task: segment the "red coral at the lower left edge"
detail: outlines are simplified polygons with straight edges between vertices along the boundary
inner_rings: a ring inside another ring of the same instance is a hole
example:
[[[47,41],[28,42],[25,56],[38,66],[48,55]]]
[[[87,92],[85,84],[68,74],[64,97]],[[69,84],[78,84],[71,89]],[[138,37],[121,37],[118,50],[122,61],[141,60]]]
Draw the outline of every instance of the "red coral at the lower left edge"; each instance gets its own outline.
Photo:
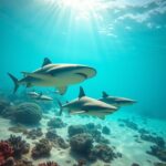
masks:
[[[11,157],[13,149],[8,142],[0,142],[0,166],[3,165],[4,160]]]

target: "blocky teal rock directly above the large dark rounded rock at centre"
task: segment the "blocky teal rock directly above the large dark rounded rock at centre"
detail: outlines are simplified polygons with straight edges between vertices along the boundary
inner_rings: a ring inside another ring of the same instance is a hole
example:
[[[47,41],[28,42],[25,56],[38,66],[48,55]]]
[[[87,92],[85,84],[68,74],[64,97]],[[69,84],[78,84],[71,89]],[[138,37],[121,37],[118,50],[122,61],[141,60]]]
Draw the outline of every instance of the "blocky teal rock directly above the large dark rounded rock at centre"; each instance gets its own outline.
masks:
[[[68,128],[68,133],[69,133],[69,136],[74,136],[76,134],[82,134],[82,133],[85,133],[86,132],[86,128],[84,125],[71,125],[69,126]]]

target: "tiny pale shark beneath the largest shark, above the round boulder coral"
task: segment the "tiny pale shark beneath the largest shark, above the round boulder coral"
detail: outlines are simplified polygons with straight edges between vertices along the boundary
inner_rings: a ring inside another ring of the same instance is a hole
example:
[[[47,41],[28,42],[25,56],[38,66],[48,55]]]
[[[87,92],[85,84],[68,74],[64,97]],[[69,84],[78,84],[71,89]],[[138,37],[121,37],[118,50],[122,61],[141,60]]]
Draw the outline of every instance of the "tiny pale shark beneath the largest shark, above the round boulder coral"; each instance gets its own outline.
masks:
[[[45,101],[45,102],[51,102],[53,101],[52,97],[44,95],[42,93],[37,93],[37,92],[28,92],[28,95],[32,98],[32,100],[37,100],[37,101]]]

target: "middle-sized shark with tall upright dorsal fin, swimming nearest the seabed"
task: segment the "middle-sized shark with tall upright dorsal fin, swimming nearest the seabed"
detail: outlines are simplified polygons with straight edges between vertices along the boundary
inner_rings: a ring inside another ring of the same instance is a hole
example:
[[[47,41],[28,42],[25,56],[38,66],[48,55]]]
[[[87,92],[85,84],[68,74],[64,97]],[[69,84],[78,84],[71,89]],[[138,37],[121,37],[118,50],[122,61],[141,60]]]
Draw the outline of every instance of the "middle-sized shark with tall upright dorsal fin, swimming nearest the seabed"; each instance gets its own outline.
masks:
[[[60,114],[62,114],[62,111],[66,108],[70,114],[86,114],[97,116],[102,120],[105,117],[105,115],[112,114],[117,110],[113,105],[86,96],[82,87],[80,87],[80,94],[77,98],[64,105],[59,102],[59,105],[61,106]]]

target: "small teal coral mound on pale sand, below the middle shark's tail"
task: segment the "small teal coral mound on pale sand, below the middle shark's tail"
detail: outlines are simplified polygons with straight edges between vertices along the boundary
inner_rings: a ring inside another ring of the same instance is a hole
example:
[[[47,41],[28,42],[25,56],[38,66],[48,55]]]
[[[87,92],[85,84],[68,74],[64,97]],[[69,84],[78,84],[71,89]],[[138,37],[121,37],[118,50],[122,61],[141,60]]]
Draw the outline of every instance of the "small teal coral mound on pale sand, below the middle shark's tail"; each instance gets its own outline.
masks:
[[[66,125],[63,123],[61,118],[53,117],[48,122],[48,126],[51,128],[62,128],[65,127]]]

